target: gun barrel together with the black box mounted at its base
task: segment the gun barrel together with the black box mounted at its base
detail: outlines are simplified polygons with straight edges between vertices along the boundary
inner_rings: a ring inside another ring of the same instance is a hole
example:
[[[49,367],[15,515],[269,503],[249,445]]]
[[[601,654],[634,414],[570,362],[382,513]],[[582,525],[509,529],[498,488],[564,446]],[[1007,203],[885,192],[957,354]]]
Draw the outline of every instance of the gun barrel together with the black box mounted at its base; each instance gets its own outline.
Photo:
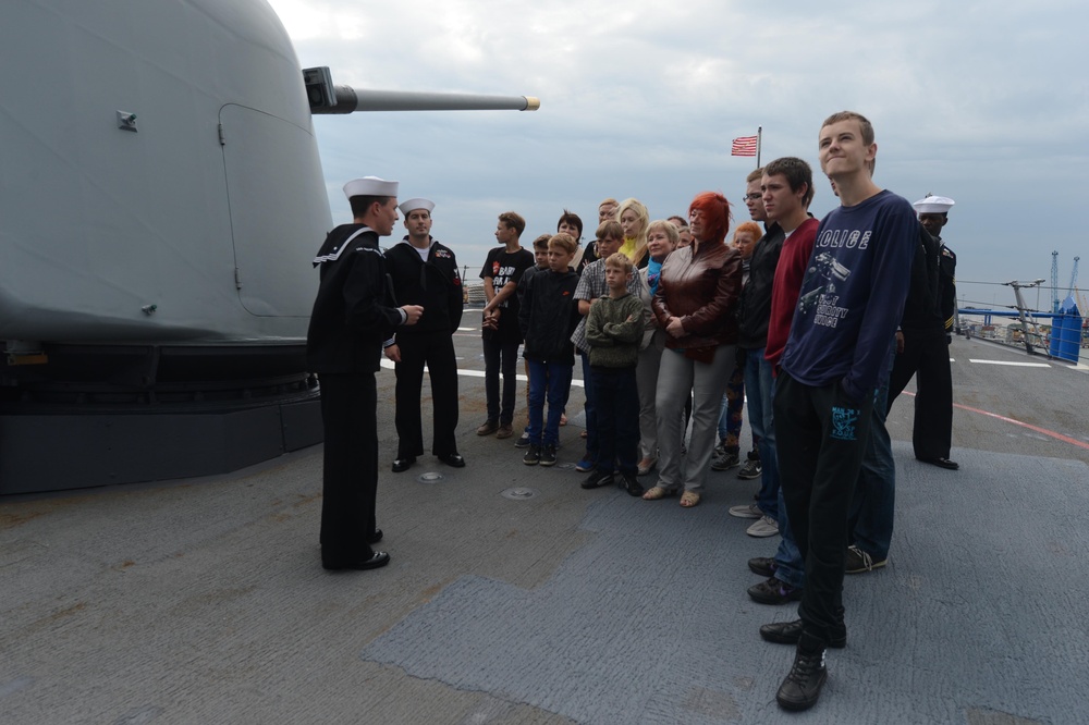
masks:
[[[358,90],[334,86],[328,66],[303,70],[310,113],[370,111],[536,111],[540,99],[533,96],[486,96],[408,90]]]

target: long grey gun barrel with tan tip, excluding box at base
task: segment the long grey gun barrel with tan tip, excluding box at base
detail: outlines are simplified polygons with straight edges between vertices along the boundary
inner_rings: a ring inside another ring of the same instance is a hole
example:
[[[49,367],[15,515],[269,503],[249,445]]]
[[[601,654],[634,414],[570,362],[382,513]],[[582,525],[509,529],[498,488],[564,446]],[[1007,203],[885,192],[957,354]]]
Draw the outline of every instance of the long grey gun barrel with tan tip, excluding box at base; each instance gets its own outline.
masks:
[[[533,96],[484,96],[409,90],[357,90],[335,86],[335,103],[311,106],[311,113],[355,113],[363,111],[536,111],[540,100]]]

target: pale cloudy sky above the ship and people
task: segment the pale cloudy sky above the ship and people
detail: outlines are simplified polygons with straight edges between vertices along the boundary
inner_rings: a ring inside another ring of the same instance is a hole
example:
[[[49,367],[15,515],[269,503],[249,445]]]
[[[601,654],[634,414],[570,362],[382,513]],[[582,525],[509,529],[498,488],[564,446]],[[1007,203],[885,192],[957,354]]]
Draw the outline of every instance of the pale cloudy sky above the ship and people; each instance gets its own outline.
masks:
[[[597,204],[634,196],[651,218],[719,191],[755,159],[730,142],[763,128],[762,161],[818,174],[817,133],[851,109],[877,130],[876,181],[915,201],[956,200],[945,239],[963,303],[1011,305],[993,283],[1044,278],[1065,294],[1089,198],[1089,7],[1032,3],[358,2],[270,0],[301,64],[357,88],[537,96],[541,109],[317,116],[333,218],[340,186],[375,174],[437,202],[433,234],[475,279],[495,216],[555,230],[566,207],[592,236]],[[1089,255],[1085,255],[1089,265]],[[1089,287],[1089,270],[1082,275]],[[991,283],[991,284],[972,284]],[[1050,307],[1050,290],[1027,293]],[[1089,295],[1086,295],[1089,298]]]

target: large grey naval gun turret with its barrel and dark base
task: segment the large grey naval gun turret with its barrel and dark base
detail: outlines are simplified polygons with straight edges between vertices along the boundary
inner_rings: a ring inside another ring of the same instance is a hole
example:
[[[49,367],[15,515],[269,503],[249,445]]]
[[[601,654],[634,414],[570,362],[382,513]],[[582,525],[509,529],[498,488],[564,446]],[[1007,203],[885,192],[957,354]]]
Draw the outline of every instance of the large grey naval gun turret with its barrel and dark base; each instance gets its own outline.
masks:
[[[0,64],[51,59],[0,75],[0,494],[319,442],[310,260],[333,222],[313,114],[539,106],[357,91],[328,67],[299,94],[268,0],[2,2],[0,19]]]

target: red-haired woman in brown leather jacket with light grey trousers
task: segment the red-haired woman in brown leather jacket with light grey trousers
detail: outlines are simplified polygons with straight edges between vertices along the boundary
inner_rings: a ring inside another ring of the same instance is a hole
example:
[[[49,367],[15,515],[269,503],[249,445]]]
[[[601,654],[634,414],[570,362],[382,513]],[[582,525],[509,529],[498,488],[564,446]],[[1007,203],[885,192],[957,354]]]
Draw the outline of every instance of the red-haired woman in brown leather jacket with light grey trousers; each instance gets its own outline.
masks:
[[[742,288],[742,259],[725,244],[730,202],[705,192],[688,207],[689,247],[662,266],[653,310],[668,336],[658,373],[659,480],[644,494],[654,501],[678,493],[681,505],[699,503],[714,451],[719,406],[733,370],[737,342],[735,307]],[[692,441],[682,459],[682,418],[693,397]]]

